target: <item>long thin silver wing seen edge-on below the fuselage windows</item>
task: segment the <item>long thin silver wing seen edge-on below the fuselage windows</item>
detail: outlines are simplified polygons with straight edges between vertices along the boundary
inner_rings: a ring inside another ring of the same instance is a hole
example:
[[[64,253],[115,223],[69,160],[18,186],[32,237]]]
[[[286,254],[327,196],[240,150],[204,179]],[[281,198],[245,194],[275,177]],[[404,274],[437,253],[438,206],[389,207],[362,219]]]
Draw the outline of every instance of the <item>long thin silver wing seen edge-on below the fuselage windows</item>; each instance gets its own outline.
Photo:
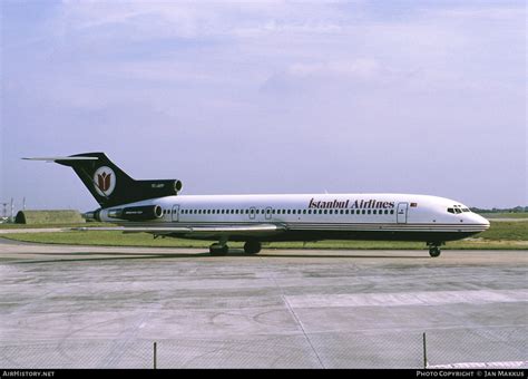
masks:
[[[182,236],[221,236],[244,235],[260,236],[278,234],[286,231],[280,224],[233,225],[233,226],[109,226],[109,227],[72,227],[72,231],[82,232],[124,232],[124,233],[150,233],[157,235],[182,235]]]

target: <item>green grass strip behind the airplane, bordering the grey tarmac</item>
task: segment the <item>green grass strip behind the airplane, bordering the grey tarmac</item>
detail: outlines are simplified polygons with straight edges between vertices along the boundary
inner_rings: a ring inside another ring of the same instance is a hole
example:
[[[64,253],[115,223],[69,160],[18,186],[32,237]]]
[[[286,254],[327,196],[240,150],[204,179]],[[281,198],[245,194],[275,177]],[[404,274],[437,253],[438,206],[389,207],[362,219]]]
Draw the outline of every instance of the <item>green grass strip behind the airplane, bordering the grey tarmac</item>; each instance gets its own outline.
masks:
[[[36,243],[101,245],[101,246],[153,246],[153,247],[201,247],[207,249],[209,241],[183,239],[153,239],[150,234],[120,232],[61,232],[61,233],[21,233],[3,234],[3,237]],[[266,244],[267,249],[373,249],[373,250],[414,250],[424,249],[422,242],[387,241],[321,241],[303,244],[302,242],[277,242]],[[231,247],[242,247],[243,243],[232,242]],[[476,235],[475,239],[448,242],[442,249],[528,250],[528,221],[491,222],[491,227]]]

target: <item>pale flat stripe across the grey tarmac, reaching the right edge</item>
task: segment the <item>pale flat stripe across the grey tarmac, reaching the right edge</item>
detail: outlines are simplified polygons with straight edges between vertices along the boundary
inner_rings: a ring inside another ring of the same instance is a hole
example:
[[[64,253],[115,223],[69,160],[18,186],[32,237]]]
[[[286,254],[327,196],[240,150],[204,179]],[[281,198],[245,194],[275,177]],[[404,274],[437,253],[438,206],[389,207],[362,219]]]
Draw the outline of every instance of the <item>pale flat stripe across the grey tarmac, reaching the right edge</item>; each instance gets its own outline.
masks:
[[[528,290],[289,295],[293,308],[489,304],[528,301]]]

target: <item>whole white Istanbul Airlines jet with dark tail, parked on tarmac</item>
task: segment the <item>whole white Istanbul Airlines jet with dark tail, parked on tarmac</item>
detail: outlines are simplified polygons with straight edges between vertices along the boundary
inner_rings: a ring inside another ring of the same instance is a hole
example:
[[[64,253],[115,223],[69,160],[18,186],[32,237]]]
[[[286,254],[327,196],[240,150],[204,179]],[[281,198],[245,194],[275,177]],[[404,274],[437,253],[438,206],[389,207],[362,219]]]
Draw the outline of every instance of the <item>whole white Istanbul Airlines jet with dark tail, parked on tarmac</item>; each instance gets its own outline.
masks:
[[[490,225],[460,202],[438,196],[179,195],[180,181],[133,179],[104,153],[23,159],[71,167],[100,205],[85,218],[119,225],[81,230],[212,240],[215,256],[228,253],[228,241],[244,242],[246,254],[257,254],[263,242],[321,240],[420,241],[430,256],[439,256],[447,241]]]

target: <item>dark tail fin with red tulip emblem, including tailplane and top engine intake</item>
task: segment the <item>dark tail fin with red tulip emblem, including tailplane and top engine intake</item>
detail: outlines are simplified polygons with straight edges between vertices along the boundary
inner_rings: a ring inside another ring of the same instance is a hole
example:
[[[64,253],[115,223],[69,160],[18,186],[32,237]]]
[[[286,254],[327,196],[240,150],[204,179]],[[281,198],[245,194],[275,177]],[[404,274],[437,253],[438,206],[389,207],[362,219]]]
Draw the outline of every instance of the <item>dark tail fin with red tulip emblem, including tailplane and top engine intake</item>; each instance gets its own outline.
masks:
[[[182,190],[182,182],[178,179],[135,181],[104,153],[23,159],[55,162],[74,168],[101,207],[177,195]]]

